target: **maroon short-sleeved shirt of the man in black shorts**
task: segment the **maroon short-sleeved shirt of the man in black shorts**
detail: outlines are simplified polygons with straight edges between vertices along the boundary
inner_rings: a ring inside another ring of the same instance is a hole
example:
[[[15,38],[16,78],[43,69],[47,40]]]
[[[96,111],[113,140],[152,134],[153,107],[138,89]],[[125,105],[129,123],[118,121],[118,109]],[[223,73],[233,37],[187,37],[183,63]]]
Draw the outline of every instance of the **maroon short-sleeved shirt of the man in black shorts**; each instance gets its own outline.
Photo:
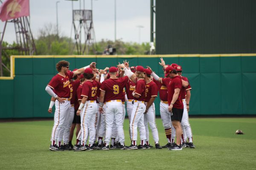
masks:
[[[169,83],[168,86],[168,104],[170,105],[172,102],[172,97],[174,94],[174,90],[175,88],[182,88],[182,80],[180,76],[175,76],[172,78],[172,81]],[[183,109],[183,102],[181,100],[181,94],[179,93],[179,96],[176,100],[176,102],[173,105],[173,108],[177,108],[177,109]]]

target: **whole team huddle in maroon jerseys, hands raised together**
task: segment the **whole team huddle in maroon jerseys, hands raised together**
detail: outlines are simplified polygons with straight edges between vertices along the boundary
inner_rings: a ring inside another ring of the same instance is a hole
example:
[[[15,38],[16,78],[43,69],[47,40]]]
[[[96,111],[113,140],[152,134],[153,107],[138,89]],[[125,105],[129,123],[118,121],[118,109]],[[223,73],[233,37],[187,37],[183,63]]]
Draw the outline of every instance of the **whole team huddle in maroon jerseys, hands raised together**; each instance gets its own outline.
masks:
[[[149,149],[149,129],[156,149],[159,144],[154,100],[160,97],[160,116],[169,150],[195,148],[189,125],[189,81],[182,68],[166,65],[161,58],[164,77],[150,67],[129,66],[126,60],[117,67],[99,70],[96,62],[69,70],[69,62],[56,64],[56,74],[46,87],[52,96],[48,112],[55,105],[50,150],[137,150]],[[126,109],[125,109],[126,102]],[[125,146],[123,123],[127,111],[130,146]],[[72,138],[76,127],[76,144]],[[140,142],[137,142],[139,127]],[[176,136],[176,142],[175,140]]]

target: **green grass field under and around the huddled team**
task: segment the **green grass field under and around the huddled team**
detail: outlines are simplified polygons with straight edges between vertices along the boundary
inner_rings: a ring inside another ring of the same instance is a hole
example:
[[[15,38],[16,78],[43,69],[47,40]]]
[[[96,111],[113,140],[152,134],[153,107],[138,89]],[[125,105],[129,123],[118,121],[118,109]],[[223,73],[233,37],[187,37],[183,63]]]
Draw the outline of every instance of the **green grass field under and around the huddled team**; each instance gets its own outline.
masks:
[[[256,169],[256,118],[193,118],[190,124],[196,149],[54,152],[49,150],[53,121],[0,123],[0,169]],[[164,145],[160,119],[157,125]],[[124,127],[128,145],[128,119]],[[237,129],[244,135],[235,135]]]

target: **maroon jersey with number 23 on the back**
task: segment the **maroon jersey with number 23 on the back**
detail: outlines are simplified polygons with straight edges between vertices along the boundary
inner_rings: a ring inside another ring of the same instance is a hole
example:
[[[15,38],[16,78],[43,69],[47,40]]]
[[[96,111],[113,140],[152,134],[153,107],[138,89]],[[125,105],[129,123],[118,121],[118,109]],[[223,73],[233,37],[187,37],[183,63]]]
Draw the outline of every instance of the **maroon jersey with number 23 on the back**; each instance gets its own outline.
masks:
[[[83,84],[81,97],[88,97],[87,100],[97,100],[98,83],[95,80],[87,80]]]

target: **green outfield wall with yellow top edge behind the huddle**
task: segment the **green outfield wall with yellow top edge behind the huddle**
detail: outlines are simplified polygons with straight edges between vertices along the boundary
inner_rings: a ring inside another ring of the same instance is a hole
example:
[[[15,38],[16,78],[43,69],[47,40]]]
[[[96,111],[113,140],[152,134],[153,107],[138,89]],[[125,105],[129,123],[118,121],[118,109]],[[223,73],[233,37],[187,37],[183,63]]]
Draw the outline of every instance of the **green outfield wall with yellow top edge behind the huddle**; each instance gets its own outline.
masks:
[[[160,62],[177,63],[192,86],[189,115],[256,115],[256,54],[153,56],[12,56],[12,76],[0,77],[0,118],[53,117],[47,112],[45,87],[64,59],[70,70],[97,62],[97,68],[127,59],[130,66],[150,66],[163,77]],[[160,99],[155,100],[156,115]]]

